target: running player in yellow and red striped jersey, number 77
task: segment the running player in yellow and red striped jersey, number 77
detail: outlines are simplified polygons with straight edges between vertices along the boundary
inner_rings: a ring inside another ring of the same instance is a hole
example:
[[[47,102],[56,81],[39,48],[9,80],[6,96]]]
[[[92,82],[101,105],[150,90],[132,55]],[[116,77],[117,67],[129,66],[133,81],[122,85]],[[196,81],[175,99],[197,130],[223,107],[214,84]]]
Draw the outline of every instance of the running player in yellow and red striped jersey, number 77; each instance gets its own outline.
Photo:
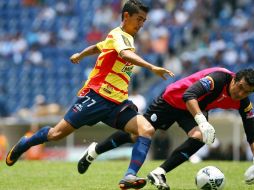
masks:
[[[88,80],[78,92],[77,101],[54,127],[43,127],[31,137],[22,137],[6,157],[12,166],[31,146],[62,139],[84,125],[103,122],[111,127],[136,135],[129,168],[119,182],[121,189],[139,189],[146,179],[137,177],[151,144],[154,128],[138,114],[128,100],[128,85],[134,66],[144,67],[166,79],[173,76],[167,69],[154,66],[135,54],[134,36],[146,21],[149,8],[138,0],[128,0],[122,9],[121,25],[106,39],[73,54],[71,62],[78,64],[86,56],[99,54]],[[92,155],[93,156],[93,155]],[[86,157],[88,161],[92,156]]]

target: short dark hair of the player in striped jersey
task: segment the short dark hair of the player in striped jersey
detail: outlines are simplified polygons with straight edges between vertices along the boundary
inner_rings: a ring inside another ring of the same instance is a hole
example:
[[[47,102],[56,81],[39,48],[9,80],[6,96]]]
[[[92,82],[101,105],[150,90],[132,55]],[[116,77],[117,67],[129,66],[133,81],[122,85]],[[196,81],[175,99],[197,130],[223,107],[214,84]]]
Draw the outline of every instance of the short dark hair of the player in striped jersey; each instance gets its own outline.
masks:
[[[145,4],[143,4],[141,1],[139,0],[128,0],[122,9],[122,20],[123,20],[123,15],[124,12],[128,12],[129,15],[133,15],[135,13],[138,13],[140,10],[148,13],[149,12],[149,7],[146,6]]]

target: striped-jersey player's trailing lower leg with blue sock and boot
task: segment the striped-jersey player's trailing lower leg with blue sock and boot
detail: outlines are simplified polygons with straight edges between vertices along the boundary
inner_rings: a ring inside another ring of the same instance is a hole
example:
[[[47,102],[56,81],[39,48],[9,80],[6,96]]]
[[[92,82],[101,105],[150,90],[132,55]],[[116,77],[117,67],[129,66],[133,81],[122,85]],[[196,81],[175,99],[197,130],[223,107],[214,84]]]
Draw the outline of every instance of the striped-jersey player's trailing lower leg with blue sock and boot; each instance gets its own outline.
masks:
[[[30,147],[42,144],[47,141],[55,141],[66,137],[75,129],[64,119],[61,120],[54,128],[43,127],[31,137],[23,136],[16,145],[12,147],[6,157],[6,164],[12,166],[19,157]]]

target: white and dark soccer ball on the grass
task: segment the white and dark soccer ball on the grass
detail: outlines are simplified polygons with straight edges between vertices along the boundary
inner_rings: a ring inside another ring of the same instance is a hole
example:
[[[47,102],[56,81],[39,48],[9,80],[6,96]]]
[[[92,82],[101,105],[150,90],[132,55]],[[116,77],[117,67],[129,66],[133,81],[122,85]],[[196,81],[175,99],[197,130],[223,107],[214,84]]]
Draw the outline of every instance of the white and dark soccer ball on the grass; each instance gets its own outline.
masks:
[[[225,176],[215,166],[206,166],[198,171],[195,182],[200,190],[221,190],[225,185]]]

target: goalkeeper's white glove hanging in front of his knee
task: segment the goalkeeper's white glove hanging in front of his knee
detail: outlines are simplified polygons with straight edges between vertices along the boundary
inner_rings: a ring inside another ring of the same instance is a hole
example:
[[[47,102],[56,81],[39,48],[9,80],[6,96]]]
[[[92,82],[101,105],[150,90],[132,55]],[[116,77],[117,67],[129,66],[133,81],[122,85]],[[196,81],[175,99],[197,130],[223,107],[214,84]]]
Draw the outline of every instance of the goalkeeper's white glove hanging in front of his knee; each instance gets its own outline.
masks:
[[[213,126],[208,122],[203,122],[198,125],[199,130],[202,133],[203,142],[210,145],[215,140],[215,130]]]

